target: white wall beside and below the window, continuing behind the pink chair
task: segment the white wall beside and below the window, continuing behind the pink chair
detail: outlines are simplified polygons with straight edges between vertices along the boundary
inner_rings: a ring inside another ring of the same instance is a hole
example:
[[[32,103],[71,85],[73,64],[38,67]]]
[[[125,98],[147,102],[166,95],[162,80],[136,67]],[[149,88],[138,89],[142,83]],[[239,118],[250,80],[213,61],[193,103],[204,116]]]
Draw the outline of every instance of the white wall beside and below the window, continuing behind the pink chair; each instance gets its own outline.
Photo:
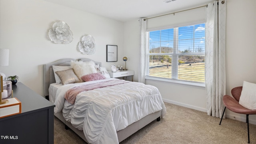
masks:
[[[256,1],[226,0],[226,94],[243,81],[256,83]],[[139,53],[139,22],[132,20],[124,24],[124,53],[132,56]],[[139,58],[129,64],[138,80]],[[202,88],[182,86],[155,80],[146,84],[156,86],[165,102],[206,112],[206,92]],[[244,121],[246,116],[226,110],[226,117]],[[249,122],[256,124],[256,116]]]

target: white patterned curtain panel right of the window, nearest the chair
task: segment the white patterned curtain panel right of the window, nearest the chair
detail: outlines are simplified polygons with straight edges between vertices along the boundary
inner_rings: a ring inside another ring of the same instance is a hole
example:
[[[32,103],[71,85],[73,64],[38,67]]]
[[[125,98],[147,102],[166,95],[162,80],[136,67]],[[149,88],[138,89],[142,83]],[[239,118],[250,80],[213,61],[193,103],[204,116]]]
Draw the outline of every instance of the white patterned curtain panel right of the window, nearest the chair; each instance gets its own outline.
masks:
[[[222,101],[226,94],[225,28],[226,2],[214,1],[206,8],[206,60],[205,84],[207,114],[221,118]]]

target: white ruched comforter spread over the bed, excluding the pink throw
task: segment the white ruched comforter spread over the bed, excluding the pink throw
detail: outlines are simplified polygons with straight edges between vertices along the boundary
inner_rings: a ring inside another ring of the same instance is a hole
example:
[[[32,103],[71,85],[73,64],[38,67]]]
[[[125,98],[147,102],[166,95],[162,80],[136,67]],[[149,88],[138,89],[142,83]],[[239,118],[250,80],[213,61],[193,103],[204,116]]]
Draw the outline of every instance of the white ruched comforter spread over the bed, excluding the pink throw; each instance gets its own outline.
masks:
[[[54,112],[61,112],[63,108],[64,118],[74,127],[83,130],[89,143],[118,144],[118,130],[159,110],[162,110],[162,117],[165,115],[166,108],[158,89],[139,82],[81,92],[76,96],[74,104],[65,101],[64,95],[70,88],[100,81],[105,80],[61,86],[54,102]]]

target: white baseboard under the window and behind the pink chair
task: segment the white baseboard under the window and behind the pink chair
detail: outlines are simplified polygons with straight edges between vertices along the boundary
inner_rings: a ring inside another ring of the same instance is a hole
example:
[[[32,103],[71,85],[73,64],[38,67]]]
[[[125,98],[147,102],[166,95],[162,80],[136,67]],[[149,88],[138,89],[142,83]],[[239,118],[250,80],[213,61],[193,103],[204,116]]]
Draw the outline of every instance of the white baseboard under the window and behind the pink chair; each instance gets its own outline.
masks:
[[[185,108],[191,108],[191,109],[198,110],[198,111],[201,111],[201,112],[207,112],[206,108],[200,108],[198,106],[192,106],[192,105],[189,105],[189,104],[184,104],[184,103],[181,103],[181,102],[176,102],[176,101],[167,100],[167,99],[163,99],[163,101],[167,102],[167,103],[170,103],[170,104],[183,106]],[[226,109],[226,110],[228,110],[228,109]],[[233,119],[233,120],[238,120],[238,121],[241,121],[241,122],[246,122],[246,115],[245,114],[236,114],[236,113],[227,114],[226,113],[226,118],[230,118],[230,119]],[[256,120],[250,118],[250,115],[249,115],[249,123],[256,125]]]

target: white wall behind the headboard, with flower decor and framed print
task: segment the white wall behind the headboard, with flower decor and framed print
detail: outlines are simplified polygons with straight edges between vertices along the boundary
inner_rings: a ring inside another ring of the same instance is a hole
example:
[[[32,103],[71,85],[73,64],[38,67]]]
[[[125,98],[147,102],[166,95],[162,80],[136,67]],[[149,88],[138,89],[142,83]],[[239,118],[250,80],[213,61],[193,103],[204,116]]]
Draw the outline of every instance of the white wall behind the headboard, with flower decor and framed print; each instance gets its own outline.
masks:
[[[48,31],[52,24],[64,21],[70,26],[73,41],[55,44]],[[9,66],[2,66],[6,76],[18,75],[20,82],[43,94],[43,64],[61,58],[91,58],[110,64],[123,63],[124,24],[112,19],[74,10],[44,0],[0,1],[0,48],[10,49]],[[82,36],[92,35],[96,52],[81,54],[77,50]],[[118,62],[106,62],[106,45],[118,46]]]

